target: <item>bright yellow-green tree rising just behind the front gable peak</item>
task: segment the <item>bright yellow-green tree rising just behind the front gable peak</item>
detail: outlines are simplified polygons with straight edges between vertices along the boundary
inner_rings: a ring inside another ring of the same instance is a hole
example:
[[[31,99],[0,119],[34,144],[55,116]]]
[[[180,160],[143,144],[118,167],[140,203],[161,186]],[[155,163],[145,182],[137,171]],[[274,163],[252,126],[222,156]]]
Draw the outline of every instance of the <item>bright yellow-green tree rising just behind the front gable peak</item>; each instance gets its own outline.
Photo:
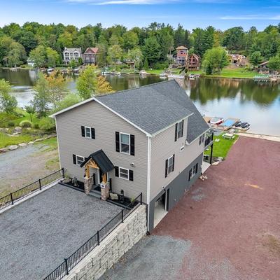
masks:
[[[85,70],[78,77],[76,87],[80,98],[83,100],[94,95],[94,92],[97,89],[97,74],[95,66],[85,66]]]

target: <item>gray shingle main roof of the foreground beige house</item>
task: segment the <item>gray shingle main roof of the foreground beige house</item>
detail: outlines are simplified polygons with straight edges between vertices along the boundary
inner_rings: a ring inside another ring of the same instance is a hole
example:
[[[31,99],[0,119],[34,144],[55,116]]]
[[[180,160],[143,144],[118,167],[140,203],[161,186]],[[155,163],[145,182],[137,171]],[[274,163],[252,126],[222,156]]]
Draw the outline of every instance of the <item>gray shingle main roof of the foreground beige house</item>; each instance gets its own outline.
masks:
[[[124,90],[97,99],[149,134],[155,134],[191,114],[188,118],[189,143],[209,128],[186,91],[175,80]]]

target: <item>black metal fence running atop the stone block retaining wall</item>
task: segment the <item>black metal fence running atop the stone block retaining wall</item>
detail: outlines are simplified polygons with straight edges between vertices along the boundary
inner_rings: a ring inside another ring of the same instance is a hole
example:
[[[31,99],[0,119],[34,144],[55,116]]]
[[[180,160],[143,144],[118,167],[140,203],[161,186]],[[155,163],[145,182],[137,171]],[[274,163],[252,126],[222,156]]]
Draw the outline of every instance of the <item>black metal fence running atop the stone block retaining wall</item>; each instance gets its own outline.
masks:
[[[80,260],[83,260],[86,255],[90,253],[96,246],[100,244],[120,223],[125,221],[125,218],[130,216],[132,212],[142,204],[142,193],[129,205],[127,205],[122,211],[120,211],[115,217],[106,223],[101,230],[98,230],[95,235],[90,237],[78,250],[69,256],[69,258],[64,258],[59,267],[52,271],[43,280],[60,280],[65,275],[69,274],[69,271],[75,267]]]

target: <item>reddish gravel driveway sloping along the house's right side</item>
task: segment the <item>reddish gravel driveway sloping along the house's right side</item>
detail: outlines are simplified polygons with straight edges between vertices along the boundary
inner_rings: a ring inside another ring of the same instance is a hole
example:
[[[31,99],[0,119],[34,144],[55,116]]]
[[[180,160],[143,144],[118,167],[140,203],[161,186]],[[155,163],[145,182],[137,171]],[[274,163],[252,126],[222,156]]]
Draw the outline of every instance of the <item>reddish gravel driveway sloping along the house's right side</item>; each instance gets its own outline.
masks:
[[[280,143],[241,137],[102,280],[279,280],[279,170]]]

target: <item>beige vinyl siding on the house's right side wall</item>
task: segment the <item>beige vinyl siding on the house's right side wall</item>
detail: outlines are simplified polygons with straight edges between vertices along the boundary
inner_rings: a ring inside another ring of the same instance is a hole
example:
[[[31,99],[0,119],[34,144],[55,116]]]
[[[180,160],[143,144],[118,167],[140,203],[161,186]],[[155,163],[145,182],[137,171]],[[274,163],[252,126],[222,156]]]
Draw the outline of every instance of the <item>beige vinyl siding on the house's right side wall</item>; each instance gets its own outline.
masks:
[[[183,137],[177,141],[175,141],[175,125],[151,139],[150,201],[204,151],[204,144],[199,145],[199,139],[196,139],[193,144],[186,145],[187,125],[188,118],[184,120]],[[182,146],[184,146],[183,151],[181,151]],[[165,160],[173,154],[175,154],[174,172],[165,178]]]

